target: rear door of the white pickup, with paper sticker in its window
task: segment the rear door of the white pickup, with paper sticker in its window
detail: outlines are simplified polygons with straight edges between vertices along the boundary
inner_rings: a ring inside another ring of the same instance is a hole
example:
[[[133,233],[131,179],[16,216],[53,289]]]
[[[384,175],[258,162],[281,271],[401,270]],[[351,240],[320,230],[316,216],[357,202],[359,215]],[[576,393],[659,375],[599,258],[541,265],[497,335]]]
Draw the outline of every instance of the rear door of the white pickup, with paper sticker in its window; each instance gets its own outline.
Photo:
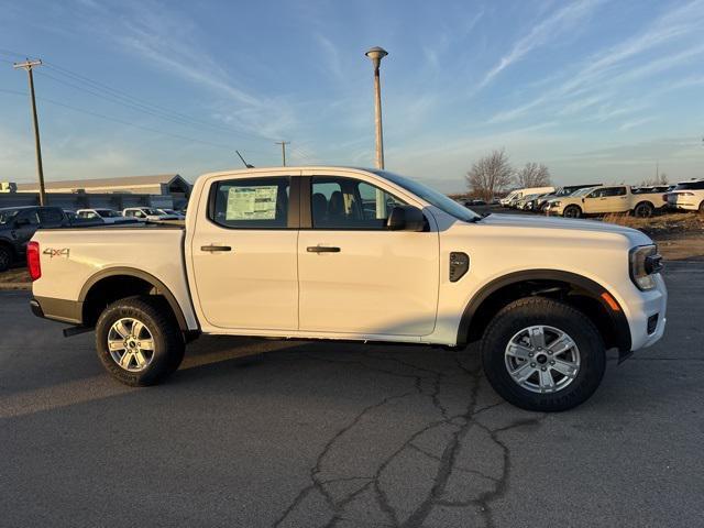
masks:
[[[197,301],[210,324],[298,329],[292,182],[289,176],[261,176],[211,184],[208,210],[199,213],[190,246]]]

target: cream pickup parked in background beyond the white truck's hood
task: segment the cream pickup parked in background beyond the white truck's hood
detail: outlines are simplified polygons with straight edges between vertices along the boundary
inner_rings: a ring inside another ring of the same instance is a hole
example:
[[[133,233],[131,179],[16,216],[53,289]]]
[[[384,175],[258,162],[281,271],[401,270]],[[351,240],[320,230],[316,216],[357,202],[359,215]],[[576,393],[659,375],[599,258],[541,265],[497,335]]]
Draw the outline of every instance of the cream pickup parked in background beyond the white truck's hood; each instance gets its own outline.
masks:
[[[581,195],[581,196],[580,196]],[[631,212],[648,218],[667,205],[662,193],[634,193],[627,185],[604,185],[587,194],[574,194],[548,202],[546,212],[566,218],[609,212]]]

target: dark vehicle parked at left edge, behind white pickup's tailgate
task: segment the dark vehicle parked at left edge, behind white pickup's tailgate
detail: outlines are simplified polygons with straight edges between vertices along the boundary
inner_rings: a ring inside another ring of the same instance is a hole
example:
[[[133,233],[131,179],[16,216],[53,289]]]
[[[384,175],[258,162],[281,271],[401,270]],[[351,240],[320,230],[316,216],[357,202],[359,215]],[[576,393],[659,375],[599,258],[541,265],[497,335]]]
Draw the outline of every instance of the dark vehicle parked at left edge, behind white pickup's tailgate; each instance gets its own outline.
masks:
[[[0,272],[22,261],[26,243],[40,228],[61,228],[69,221],[61,207],[8,207],[0,209]]]

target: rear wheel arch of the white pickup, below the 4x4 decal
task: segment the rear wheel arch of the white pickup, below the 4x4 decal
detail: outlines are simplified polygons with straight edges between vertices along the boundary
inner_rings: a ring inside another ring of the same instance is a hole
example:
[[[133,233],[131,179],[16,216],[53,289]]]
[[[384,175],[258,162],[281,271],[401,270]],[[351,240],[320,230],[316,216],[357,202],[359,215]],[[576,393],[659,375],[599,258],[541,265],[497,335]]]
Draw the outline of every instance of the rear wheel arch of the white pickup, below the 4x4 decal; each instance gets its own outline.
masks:
[[[109,294],[100,296],[100,294]],[[174,294],[158,278],[150,273],[133,267],[111,267],[92,275],[80,289],[78,301],[81,304],[82,323],[94,326],[100,312],[98,308],[102,299],[109,302],[131,297],[132,295],[158,295],[166,299],[178,327],[189,332],[184,311]]]

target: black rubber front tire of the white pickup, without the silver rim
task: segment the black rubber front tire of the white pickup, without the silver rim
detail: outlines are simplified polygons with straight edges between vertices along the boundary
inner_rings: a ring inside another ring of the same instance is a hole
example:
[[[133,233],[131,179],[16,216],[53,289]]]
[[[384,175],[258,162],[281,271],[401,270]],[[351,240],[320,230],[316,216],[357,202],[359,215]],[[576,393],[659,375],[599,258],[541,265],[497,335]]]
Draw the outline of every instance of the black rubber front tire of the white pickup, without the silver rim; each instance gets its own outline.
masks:
[[[505,351],[512,338],[536,324],[566,332],[579,348],[581,363],[576,376],[552,393],[525,388],[514,381],[506,365]],[[488,382],[504,399],[541,413],[568,410],[586,402],[602,382],[606,367],[604,342],[592,321],[575,308],[543,297],[527,297],[503,308],[484,332],[481,354]]]

